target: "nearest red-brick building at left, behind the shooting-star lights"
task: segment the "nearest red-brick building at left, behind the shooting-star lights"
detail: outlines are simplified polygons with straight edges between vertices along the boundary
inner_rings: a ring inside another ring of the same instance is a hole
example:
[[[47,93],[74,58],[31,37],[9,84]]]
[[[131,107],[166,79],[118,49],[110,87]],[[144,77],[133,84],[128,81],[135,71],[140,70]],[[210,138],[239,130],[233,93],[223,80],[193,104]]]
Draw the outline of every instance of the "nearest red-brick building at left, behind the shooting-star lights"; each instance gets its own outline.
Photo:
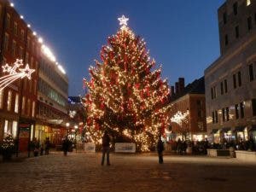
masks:
[[[16,59],[22,59],[24,66],[36,69],[32,79],[16,80],[3,90],[3,108],[0,108],[0,140],[3,139],[4,125],[8,121],[8,132],[18,137],[18,125],[34,124],[37,103],[38,82],[38,40],[32,35],[31,29],[20,18],[8,1],[0,1],[0,41],[1,41],[1,76],[2,66],[12,66]],[[9,91],[11,91],[11,108],[8,110]],[[1,98],[0,98],[1,99]],[[16,101],[15,101],[16,100]],[[24,102],[22,104],[22,102]]]

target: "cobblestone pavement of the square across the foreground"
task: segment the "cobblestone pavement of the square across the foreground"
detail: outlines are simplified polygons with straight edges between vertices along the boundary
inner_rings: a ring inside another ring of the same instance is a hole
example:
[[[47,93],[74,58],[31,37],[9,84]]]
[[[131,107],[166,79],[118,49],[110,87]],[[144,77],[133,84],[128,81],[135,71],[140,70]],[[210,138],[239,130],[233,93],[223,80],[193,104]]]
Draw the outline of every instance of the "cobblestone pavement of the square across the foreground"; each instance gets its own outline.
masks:
[[[255,191],[256,163],[205,156],[52,152],[47,156],[0,162],[1,192],[244,192]]]

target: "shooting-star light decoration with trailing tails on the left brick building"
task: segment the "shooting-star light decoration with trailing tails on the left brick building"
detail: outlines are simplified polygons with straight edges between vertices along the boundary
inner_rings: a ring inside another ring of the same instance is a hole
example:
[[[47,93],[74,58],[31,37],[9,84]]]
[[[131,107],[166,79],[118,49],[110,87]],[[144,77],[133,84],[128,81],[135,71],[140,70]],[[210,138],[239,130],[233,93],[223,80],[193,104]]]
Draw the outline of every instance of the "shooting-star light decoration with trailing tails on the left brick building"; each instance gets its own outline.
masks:
[[[3,73],[9,73],[0,78],[0,91],[7,87],[9,84],[15,82],[17,79],[31,79],[32,73],[35,72],[35,69],[29,68],[28,64],[26,64],[25,68],[20,68],[23,66],[23,61],[16,59],[14,63],[14,67],[10,67],[8,63],[6,63],[3,68]],[[19,71],[18,71],[19,70]]]

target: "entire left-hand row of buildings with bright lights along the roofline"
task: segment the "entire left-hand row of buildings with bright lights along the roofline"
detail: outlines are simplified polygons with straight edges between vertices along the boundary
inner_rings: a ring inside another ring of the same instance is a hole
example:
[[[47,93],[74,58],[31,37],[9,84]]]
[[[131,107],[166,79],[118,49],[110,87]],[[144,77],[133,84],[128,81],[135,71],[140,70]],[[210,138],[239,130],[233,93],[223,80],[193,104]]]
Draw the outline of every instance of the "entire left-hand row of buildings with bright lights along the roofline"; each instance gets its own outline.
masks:
[[[17,79],[0,90],[0,143],[11,134],[17,149],[26,151],[34,137],[45,138],[38,125],[67,119],[68,79],[50,49],[7,0],[0,0],[0,46],[0,77],[7,74],[2,67],[14,65],[16,59],[35,69],[31,79]]]

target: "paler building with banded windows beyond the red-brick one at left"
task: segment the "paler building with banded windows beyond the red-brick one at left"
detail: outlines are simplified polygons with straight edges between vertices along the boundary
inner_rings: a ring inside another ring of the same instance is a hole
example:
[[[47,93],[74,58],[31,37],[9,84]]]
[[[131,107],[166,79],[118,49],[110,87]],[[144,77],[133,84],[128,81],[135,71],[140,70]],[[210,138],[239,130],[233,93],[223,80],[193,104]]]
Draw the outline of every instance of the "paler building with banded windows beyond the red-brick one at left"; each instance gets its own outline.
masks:
[[[38,108],[34,137],[43,143],[46,137],[56,145],[66,134],[68,121],[68,79],[44,52],[38,64]]]

